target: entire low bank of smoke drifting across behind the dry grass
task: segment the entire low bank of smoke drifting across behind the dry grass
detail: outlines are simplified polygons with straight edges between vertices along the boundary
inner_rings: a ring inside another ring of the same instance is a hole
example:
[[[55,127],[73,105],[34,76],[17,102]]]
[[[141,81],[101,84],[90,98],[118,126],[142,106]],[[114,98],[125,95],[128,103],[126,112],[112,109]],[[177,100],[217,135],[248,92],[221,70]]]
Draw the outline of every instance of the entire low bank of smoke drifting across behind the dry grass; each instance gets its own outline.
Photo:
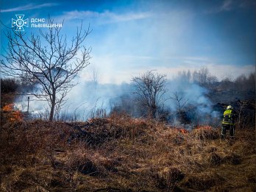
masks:
[[[135,102],[134,86],[132,83],[102,84],[96,81],[85,81],[77,78],[79,84],[71,89],[66,96],[67,101],[62,110],[58,113],[57,118],[63,120],[86,121],[96,110],[104,110],[109,114],[114,108],[126,111],[135,117],[143,116],[146,110],[143,106]],[[172,124],[210,124],[213,119],[218,121],[219,113],[214,111],[212,102],[207,97],[209,91],[188,79],[176,77],[166,81],[166,100],[164,110],[168,111],[166,117]],[[182,122],[177,116],[177,100],[171,99],[177,93],[182,96],[180,101],[182,105],[183,118],[188,118],[188,122]],[[16,99],[16,106],[22,110],[27,110],[27,96],[20,96]],[[29,96],[29,113],[34,116],[47,115],[48,104],[46,101]],[[119,110],[120,111],[120,110]],[[187,125],[188,127],[188,125]]]

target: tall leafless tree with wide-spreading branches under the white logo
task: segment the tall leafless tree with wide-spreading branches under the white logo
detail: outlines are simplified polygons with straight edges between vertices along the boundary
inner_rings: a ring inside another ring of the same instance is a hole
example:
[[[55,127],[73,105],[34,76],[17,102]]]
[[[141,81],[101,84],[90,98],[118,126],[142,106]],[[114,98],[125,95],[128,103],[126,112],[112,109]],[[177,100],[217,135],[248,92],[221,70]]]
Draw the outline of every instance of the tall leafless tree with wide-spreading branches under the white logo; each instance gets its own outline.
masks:
[[[50,17],[49,24],[55,27],[29,37],[15,29],[7,31],[8,46],[1,60],[1,71],[37,85],[32,93],[43,95],[50,108],[49,120],[53,121],[54,111],[63,104],[68,91],[77,85],[77,74],[89,65],[91,49],[83,46],[90,26],[82,30],[81,24],[75,37],[68,42],[67,36],[60,33],[61,27],[53,25]]]

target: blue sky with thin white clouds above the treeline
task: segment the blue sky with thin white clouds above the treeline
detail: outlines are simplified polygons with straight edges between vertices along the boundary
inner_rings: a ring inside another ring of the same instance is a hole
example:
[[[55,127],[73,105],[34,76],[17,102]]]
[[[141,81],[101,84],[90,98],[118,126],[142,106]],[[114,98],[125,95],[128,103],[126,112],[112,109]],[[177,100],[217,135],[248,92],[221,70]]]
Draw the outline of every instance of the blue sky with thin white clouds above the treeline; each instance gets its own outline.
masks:
[[[148,70],[173,77],[177,71],[207,66],[219,79],[255,71],[255,2],[220,1],[3,1],[1,22],[25,18],[65,20],[63,33],[75,35],[81,21],[93,29],[90,67],[100,82],[129,82]],[[1,26],[1,54],[6,38]],[[26,32],[38,33],[36,28]]]

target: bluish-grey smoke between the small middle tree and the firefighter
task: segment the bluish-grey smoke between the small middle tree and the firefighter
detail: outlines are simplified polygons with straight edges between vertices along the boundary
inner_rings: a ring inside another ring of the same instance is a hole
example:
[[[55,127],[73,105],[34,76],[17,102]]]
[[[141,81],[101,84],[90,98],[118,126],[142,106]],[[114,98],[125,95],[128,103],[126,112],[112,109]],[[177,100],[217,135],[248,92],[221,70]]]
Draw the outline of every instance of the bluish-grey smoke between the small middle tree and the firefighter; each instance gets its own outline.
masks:
[[[213,110],[213,103],[207,97],[210,93],[207,88],[182,77],[168,80],[166,88],[166,97],[171,99],[168,99],[165,105],[166,109],[171,111],[173,124],[218,124],[220,121],[220,113]],[[178,100],[181,114],[177,112]]]

